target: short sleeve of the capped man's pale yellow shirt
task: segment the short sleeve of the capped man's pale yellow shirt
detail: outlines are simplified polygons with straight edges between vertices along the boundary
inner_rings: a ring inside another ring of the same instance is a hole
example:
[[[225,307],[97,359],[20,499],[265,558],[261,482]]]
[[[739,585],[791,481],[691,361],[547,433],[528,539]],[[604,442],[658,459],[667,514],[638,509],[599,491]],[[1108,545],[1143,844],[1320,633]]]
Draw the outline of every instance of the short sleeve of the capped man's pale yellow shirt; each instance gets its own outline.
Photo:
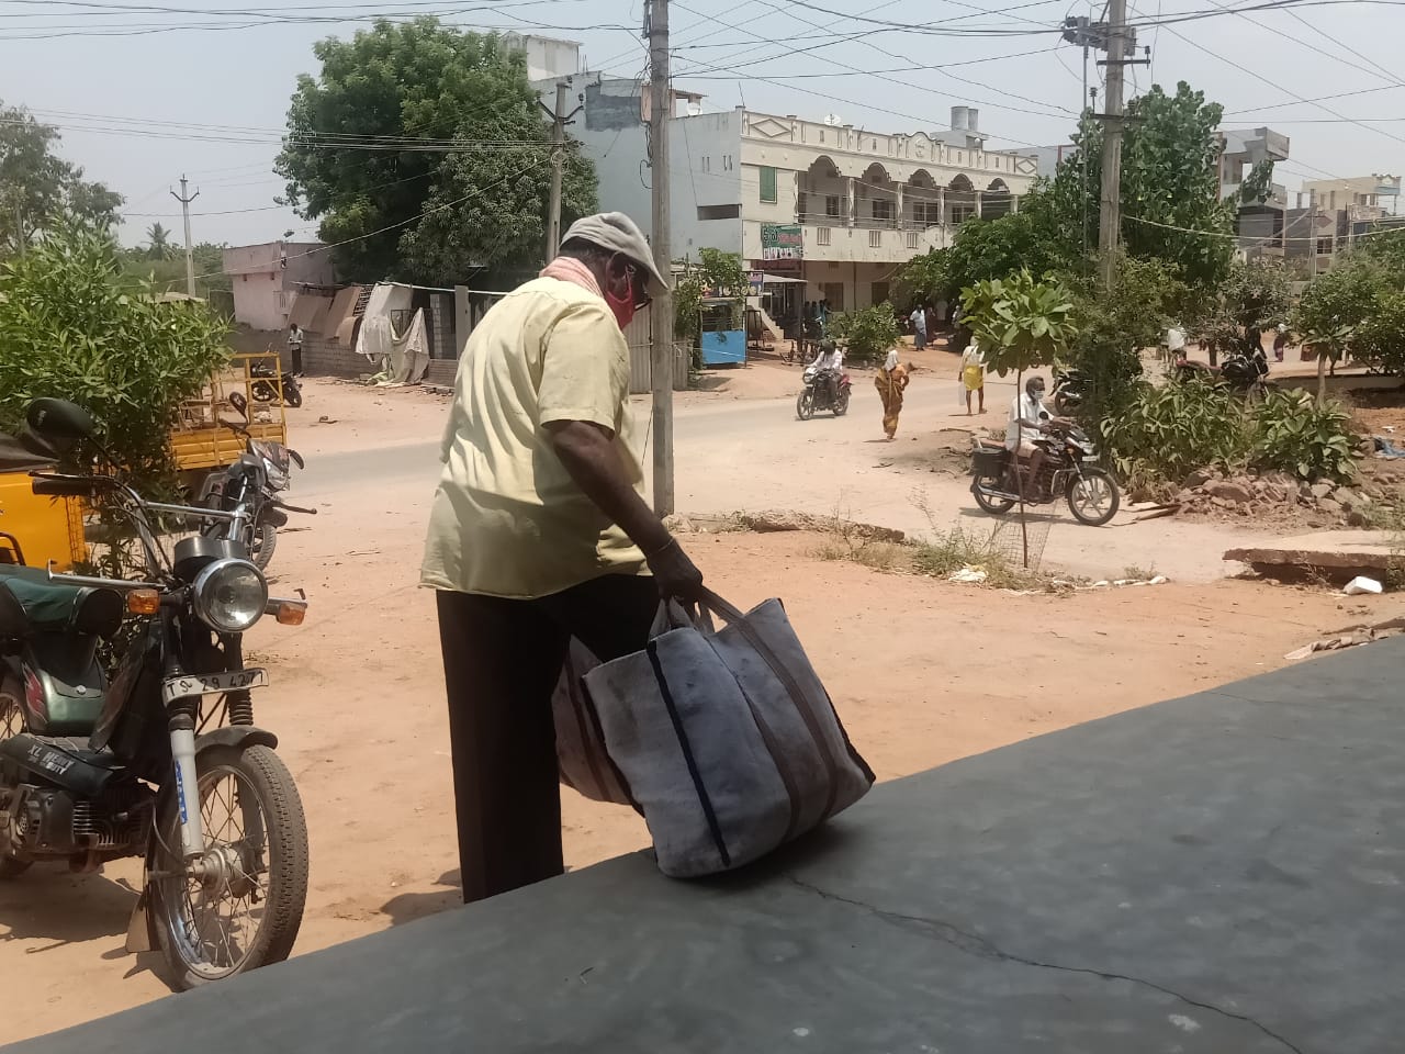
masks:
[[[614,431],[628,386],[620,326],[604,304],[575,305],[545,337],[537,423],[584,420]]]

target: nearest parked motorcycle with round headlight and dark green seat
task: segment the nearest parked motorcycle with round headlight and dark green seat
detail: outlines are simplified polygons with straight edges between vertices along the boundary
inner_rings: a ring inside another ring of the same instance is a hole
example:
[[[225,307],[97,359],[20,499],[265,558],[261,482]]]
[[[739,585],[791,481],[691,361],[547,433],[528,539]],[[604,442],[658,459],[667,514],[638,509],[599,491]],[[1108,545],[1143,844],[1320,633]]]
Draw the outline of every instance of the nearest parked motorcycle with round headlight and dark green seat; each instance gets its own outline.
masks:
[[[94,440],[73,403],[37,399],[55,445]],[[103,495],[135,528],[145,580],[0,568],[0,878],[37,861],[94,871],[143,857],[128,951],[159,947],[180,989],[292,951],[308,892],[308,828],[278,739],[254,724],[243,634],[299,625],[243,545],[204,535],[167,554],[160,516],[244,510],[148,502],[110,475],[32,475],[35,493]],[[125,645],[122,641],[125,639]],[[121,655],[111,680],[103,646]]]

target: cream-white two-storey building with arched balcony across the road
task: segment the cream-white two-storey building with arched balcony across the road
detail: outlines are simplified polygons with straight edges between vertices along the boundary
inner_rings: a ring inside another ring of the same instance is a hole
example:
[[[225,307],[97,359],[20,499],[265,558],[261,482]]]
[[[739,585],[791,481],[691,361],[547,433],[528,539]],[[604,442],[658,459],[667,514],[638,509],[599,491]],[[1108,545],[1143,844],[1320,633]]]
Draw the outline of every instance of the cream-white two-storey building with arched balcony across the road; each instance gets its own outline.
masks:
[[[898,266],[951,243],[975,216],[1019,209],[1033,156],[986,150],[976,111],[946,134],[882,134],[736,108],[674,117],[669,138],[674,257],[714,247],[752,270],[805,281],[836,311],[888,299]],[[608,208],[601,181],[601,204]]]

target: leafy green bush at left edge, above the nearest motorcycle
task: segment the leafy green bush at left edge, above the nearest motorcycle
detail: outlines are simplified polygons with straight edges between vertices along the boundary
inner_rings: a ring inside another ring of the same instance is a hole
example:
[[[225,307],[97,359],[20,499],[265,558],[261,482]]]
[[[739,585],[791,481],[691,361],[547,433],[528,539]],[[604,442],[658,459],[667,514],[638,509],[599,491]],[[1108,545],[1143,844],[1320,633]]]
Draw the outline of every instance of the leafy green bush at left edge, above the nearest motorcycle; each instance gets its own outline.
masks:
[[[204,304],[163,304],[124,281],[112,240],[79,225],[0,267],[0,429],[20,427],[31,399],[72,399],[101,422],[138,485],[160,492],[174,481],[177,406],[229,349]]]

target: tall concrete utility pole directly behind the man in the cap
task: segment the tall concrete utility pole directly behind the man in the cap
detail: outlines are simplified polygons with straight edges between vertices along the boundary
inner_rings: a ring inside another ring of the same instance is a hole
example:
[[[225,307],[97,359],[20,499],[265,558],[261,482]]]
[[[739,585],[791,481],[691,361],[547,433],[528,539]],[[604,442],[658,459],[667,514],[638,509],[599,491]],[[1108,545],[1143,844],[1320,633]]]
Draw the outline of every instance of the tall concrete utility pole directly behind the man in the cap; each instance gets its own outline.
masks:
[[[669,0],[649,0],[649,159],[653,173],[653,263],[670,288],[653,298],[649,327],[653,391],[653,512],[673,513],[673,263],[669,259]]]

